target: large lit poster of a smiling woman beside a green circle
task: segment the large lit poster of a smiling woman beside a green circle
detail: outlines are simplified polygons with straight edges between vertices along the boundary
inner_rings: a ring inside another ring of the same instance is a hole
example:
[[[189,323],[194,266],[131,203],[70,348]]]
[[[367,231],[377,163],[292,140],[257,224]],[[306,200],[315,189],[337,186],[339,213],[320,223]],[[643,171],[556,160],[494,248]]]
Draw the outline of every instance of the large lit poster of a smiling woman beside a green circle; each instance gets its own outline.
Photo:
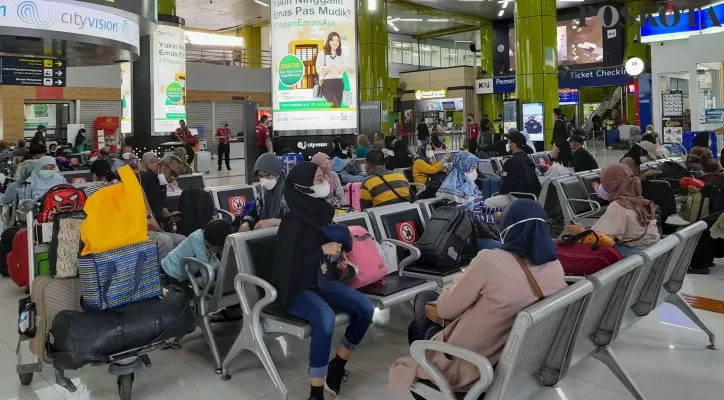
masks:
[[[356,5],[271,2],[275,131],[357,128]]]

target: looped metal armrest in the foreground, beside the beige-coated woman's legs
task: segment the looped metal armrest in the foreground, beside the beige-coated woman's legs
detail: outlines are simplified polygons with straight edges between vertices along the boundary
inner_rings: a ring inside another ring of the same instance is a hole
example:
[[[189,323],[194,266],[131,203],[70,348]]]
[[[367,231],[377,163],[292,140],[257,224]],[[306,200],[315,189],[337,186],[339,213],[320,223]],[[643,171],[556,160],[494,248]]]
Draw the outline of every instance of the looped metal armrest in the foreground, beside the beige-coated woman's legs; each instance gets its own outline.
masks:
[[[470,388],[468,393],[465,395],[464,400],[478,399],[486,390],[488,390],[490,384],[493,383],[493,366],[490,365],[490,361],[488,361],[486,357],[473,351],[444,342],[434,342],[431,340],[416,340],[412,342],[412,345],[410,345],[410,355],[418,364],[420,364],[420,367],[422,367],[422,369],[430,375],[432,381],[440,389],[440,392],[442,392],[443,398],[454,399],[455,394],[453,393],[447,378],[445,378],[445,375],[442,374],[435,364],[427,359],[426,352],[428,350],[437,351],[463,359],[478,368],[480,378]]]

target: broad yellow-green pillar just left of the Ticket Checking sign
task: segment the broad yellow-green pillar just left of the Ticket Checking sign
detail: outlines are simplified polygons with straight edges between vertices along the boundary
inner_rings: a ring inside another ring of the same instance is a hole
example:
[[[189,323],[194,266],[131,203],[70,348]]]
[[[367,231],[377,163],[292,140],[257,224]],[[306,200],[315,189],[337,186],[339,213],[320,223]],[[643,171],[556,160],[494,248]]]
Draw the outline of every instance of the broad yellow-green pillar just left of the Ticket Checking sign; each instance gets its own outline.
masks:
[[[515,2],[516,94],[520,103],[543,103],[545,147],[553,138],[558,107],[556,0]]]

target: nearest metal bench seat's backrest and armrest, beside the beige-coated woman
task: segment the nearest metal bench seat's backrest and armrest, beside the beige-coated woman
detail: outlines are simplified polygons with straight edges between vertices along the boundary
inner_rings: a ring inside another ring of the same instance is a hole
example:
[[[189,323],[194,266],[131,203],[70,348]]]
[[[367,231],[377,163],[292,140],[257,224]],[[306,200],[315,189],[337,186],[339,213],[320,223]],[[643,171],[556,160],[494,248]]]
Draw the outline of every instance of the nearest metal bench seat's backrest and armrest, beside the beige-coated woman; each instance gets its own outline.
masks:
[[[444,342],[413,342],[410,354],[432,382],[416,381],[411,390],[428,400],[503,400],[525,399],[541,386],[556,385],[566,374],[573,338],[592,292],[593,284],[581,280],[519,312],[495,371],[486,357],[472,351]],[[427,360],[428,351],[470,362],[478,367],[480,378],[467,393],[453,393],[442,372]]]

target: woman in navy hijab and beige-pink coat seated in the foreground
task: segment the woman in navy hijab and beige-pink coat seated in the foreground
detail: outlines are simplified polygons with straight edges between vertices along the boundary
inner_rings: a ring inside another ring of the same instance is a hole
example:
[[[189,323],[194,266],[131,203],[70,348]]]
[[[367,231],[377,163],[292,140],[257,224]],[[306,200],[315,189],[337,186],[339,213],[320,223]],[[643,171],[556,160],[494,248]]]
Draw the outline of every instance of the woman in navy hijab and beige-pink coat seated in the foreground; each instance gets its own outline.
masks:
[[[533,200],[516,200],[503,213],[501,227],[500,249],[478,253],[439,296],[417,295],[415,318],[407,330],[410,343],[445,342],[483,355],[494,365],[518,312],[567,286],[543,207]],[[459,358],[434,352],[427,357],[455,391],[464,391],[480,377],[473,364]],[[431,377],[411,357],[390,368],[392,389],[409,390],[417,379]]]

